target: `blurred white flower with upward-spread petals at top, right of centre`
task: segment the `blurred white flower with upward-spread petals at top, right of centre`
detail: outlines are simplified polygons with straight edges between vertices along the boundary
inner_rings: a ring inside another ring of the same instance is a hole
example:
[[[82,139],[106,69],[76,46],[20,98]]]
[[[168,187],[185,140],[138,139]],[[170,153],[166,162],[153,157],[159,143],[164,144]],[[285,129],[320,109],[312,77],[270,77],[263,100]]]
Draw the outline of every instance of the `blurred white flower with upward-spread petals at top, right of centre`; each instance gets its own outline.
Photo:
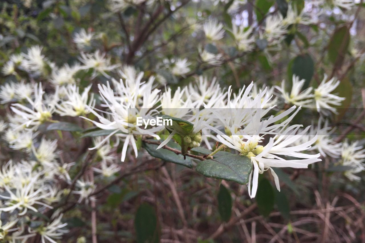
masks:
[[[240,51],[252,51],[255,46],[255,38],[252,34],[253,27],[245,30],[243,26],[237,27],[235,24],[232,25],[232,34],[236,40],[238,50]]]

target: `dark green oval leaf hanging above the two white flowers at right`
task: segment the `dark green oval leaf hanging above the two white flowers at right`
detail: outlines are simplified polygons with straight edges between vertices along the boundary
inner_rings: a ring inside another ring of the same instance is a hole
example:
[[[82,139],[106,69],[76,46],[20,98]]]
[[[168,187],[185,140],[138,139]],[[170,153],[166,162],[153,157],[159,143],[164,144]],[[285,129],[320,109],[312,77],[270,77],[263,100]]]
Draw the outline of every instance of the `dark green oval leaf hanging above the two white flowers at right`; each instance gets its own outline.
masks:
[[[292,64],[292,74],[299,76],[300,79],[305,79],[303,89],[306,89],[311,82],[314,74],[314,62],[309,54],[296,56]]]

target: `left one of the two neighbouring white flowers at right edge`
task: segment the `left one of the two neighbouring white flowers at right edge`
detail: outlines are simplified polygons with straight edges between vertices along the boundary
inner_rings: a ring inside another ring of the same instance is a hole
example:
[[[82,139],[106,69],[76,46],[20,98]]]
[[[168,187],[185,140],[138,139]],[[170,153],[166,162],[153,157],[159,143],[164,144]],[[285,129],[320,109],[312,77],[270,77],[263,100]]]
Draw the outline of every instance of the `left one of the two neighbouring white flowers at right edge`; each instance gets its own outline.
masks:
[[[296,106],[304,106],[309,107],[309,103],[312,102],[312,98],[314,97],[312,92],[312,87],[307,88],[302,91],[303,85],[306,82],[305,79],[299,80],[299,77],[295,74],[292,79],[292,90],[290,94],[285,91],[285,81],[281,83],[281,87],[276,86],[276,88],[280,91],[282,97],[284,98],[285,103],[293,104]]]

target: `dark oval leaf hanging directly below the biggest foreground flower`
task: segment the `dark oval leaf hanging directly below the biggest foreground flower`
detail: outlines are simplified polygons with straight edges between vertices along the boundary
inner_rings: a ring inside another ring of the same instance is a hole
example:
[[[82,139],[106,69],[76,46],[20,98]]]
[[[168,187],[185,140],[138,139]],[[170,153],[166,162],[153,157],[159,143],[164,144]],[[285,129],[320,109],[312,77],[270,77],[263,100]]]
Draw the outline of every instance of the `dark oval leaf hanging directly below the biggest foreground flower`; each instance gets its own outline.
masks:
[[[270,181],[266,178],[262,178],[258,183],[256,202],[258,211],[264,217],[269,216],[270,212],[274,210],[275,194],[274,189]]]

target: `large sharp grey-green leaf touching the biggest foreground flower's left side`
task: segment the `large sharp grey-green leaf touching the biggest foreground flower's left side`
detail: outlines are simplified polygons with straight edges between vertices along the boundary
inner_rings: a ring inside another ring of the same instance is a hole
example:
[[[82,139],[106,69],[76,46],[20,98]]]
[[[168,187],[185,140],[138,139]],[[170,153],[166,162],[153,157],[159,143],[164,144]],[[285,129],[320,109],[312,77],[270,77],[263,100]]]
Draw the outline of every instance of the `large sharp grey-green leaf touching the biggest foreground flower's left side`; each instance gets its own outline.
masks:
[[[239,184],[248,183],[251,170],[251,160],[238,154],[204,160],[196,166],[196,171],[203,176],[235,181]]]

